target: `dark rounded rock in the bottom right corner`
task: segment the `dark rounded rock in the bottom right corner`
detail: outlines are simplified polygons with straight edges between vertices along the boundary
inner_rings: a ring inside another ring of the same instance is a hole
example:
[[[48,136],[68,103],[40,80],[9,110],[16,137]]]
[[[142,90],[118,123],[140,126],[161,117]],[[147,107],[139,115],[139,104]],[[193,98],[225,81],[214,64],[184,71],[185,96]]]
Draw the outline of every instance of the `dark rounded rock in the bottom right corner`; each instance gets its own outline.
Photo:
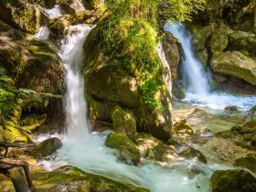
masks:
[[[210,178],[213,192],[255,192],[256,178],[245,170],[215,171]]]

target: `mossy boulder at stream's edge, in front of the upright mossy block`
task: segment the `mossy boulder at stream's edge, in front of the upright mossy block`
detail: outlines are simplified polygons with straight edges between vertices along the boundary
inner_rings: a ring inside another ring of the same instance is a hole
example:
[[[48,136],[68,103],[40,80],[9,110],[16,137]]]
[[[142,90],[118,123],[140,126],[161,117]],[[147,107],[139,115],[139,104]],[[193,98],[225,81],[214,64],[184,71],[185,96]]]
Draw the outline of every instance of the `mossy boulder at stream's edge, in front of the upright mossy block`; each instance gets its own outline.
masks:
[[[106,146],[116,149],[120,159],[127,164],[137,165],[140,162],[140,152],[133,141],[121,133],[110,133],[105,142]]]

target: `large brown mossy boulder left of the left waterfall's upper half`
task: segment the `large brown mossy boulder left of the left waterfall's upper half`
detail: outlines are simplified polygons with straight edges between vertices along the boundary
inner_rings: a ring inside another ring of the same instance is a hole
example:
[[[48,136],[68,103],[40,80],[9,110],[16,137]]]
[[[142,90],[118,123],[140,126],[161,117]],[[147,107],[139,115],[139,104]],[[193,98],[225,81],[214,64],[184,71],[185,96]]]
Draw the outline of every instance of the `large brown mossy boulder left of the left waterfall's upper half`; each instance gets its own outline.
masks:
[[[62,87],[64,69],[57,48],[0,20],[0,65],[16,87],[54,93]]]

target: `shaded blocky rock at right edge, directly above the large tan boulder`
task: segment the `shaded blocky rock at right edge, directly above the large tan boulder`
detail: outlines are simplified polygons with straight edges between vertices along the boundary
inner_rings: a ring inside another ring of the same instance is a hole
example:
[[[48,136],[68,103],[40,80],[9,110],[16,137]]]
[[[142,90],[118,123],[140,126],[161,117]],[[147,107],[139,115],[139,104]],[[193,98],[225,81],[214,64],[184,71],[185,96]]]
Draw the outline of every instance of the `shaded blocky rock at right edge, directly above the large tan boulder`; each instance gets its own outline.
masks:
[[[256,55],[256,36],[253,33],[234,31],[229,35],[229,50],[247,50]]]

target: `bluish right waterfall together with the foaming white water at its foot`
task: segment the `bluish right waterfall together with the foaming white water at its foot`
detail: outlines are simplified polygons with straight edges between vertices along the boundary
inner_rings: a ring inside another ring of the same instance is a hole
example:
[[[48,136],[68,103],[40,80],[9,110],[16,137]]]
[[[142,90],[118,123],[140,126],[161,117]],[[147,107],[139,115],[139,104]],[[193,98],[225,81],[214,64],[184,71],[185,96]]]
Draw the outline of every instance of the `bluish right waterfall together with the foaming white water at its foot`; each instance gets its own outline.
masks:
[[[196,59],[191,45],[191,36],[186,28],[178,22],[166,23],[165,31],[172,33],[181,43],[184,51],[182,60],[183,86],[186,91],[184,101],[205,106],[215,110],[223,110],[226,106],[238,106],[240,111],[248,111],[256,104],[256,96],[234,96],[219,92],[210,92],[207,72],[202,69]]]

